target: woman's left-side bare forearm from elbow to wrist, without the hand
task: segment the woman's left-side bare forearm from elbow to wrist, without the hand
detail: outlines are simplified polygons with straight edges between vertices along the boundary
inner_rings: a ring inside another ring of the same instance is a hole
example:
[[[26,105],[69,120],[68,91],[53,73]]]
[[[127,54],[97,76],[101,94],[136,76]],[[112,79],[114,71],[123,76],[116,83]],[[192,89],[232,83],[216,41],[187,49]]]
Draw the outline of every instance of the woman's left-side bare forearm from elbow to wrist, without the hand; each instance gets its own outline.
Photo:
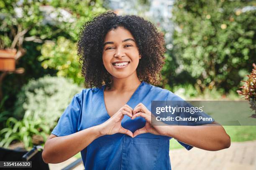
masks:
[[[46,163],[60,163],[68,160],[100,137],[98,126],[90,127],[67,136],[51,134],[44,145],[42,157]]]

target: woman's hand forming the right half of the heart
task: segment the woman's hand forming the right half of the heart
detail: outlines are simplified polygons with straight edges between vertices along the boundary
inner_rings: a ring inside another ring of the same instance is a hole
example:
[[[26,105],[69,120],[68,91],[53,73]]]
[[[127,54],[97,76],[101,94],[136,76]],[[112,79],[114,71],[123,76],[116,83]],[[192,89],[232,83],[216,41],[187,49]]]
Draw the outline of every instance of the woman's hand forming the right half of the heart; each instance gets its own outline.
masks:
[[[133,133],[133,137],[136,137],[138,134],[143,134],[143,133],[152,133],[156,135],[166,136],[169,130],[169,126],[168,125],[153,126],[151,124],[151,119],[156,119],[156,118],[142,103],[139,103],[136,107],[134,107],[133,117],[131,119],[135,119],[136,117],[139,117],[139,116],[146,119],[146,125],[143,128],[136,130]]]

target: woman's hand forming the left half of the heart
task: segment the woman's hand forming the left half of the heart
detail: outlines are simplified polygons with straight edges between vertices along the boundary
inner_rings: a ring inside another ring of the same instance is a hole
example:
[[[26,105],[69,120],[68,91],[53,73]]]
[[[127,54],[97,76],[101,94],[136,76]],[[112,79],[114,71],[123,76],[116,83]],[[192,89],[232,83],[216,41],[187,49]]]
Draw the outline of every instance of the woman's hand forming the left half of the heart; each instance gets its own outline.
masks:
[[[133,137],[133,133],[125,129],[121,126],[121,121],[124,115],[129,117],[133,117],[132,115],[132,108],[125,104],[121,109],[118,110],[112,117],[110,117],[106,122],[98,125],[100,127],[100,134],[101,135],[108,135],[108,134],[115,134],[115,133],[123,133]]]

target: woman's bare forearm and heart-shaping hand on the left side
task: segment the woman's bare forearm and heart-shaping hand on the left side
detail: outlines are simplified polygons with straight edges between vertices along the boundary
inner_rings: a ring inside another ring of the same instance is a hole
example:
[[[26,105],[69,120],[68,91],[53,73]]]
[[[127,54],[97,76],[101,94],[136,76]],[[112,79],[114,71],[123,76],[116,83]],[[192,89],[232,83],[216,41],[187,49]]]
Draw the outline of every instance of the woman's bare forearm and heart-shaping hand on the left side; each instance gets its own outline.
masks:
[[[76,155],[100,136],[123,133],[133,137],[133,133],[121,126],[124,115],[132,117],[132,108],[125,104],[106,122],[67,136],[51,134],[44,145],[42,157],[46,163],[63,162]],[[63,127],[65,128],[65,127]]]

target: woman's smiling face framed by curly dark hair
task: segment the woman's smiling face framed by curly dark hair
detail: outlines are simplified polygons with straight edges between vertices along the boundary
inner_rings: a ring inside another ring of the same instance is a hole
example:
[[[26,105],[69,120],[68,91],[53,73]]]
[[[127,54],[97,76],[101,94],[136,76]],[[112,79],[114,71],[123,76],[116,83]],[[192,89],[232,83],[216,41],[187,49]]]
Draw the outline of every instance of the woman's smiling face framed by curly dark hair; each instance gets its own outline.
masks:
[[[136,74],[140,58],[135,39],[128,30],[118,27],[107,33],[102,60],[113,77],[120,79]]]

